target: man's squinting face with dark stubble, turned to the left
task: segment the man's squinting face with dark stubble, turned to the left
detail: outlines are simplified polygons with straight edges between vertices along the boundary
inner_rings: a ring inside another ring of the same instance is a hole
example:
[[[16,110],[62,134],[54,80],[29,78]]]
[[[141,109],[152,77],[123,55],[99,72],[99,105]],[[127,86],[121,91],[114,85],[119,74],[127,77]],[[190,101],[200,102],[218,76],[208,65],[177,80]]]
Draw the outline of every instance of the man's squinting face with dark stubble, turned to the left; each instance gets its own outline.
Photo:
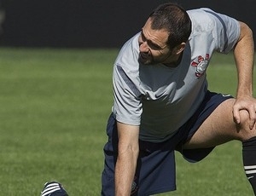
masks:
[[[153,30],[149,18],[143,26],[139,43],[139,61],[144,65],[166,63],[172,58],[172,51],[167,46],[168,32],[165,29]]]

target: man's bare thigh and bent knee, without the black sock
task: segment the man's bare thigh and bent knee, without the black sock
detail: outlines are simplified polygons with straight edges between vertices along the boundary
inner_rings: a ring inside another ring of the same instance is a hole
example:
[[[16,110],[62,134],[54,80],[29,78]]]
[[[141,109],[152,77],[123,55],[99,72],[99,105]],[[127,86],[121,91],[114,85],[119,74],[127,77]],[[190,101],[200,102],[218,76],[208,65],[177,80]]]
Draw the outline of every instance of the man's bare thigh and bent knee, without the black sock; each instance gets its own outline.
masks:
[[[256,135],[255,130],[249,130],[247,111],[241,111],[241,124],[234,122],[232,110],[235,101],[229,99],[222,102],[183,145],[183,148],[215,147],[227,141],[244,141]]]

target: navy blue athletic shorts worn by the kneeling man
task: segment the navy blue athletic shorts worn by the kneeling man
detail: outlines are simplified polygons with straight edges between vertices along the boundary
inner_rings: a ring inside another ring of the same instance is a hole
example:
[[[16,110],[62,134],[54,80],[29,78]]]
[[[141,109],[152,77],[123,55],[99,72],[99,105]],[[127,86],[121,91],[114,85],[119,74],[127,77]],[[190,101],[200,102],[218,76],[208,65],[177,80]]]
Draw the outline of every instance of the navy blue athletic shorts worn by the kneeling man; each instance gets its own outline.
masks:
[[[148,196],[176,190],[176,168],[174,151],[178,150],[190,162],[204,159],[211,148],[182,149],[183,143],[189,140],[204,120],[230,95],[207,92],[201,106],[192,118],[177,131],[168,141],[153,143],[139,141],[140,153],[137,160],[137,171],[132,184],[131,195]],[[108,142],[104,147],[105,164],[102,171],[102,196],[114,195],[114,166],[117,159],[118,135],[116,120],[111,114],[107,125]]]

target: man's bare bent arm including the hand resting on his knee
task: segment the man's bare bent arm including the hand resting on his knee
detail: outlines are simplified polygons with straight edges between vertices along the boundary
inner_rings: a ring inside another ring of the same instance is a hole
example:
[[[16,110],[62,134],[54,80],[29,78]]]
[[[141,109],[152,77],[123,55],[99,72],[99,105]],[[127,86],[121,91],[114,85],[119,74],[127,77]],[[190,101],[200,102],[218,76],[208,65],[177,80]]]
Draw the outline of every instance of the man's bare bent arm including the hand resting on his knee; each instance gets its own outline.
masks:
[[[253,98],[253,32],[245,24],[240,22],[241,33],[234,49],[238,86],[236,102],[233,107],[233,115],[237,124],[240,124],[240,110],[247,110],[250,116],[250,129],[256,122],[256,100]]]

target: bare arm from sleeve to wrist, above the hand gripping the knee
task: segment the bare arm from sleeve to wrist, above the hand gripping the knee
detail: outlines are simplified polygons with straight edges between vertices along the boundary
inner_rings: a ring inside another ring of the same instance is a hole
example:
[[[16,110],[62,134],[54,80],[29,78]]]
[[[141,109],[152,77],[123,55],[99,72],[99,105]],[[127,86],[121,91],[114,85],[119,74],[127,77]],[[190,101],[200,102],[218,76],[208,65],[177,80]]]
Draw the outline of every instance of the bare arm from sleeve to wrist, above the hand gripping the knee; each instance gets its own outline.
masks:
[[[244,23],[241,23],[241,29],[240,40],[234,49],[238,74],[237,98],[253,95],[253,33]]]

